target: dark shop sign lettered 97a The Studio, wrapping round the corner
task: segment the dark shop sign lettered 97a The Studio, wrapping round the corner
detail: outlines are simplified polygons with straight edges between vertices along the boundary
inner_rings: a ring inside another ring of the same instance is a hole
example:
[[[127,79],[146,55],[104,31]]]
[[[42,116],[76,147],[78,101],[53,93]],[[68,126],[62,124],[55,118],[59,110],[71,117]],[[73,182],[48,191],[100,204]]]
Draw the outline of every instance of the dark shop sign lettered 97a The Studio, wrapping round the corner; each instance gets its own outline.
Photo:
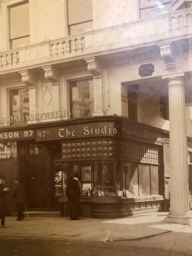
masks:
[[[154,144],[163,143],[161,134],[147,132],[144,129],[136,130],[135,126],[128,125],[128,128],[117,126],[114,122],[100,122],[90,124],[63,125],[50,128],[36,129],[36,141],[44,140],[65,140],[70,138],[103,136],[123,136],[152,142]]]

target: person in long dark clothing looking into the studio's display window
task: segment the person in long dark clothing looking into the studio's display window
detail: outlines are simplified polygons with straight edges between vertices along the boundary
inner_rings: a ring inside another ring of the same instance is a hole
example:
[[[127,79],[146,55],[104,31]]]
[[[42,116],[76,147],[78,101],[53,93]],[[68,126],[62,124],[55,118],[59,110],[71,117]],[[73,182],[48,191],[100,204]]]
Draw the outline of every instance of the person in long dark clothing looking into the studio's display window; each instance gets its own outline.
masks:
[[[71,220],[79,220],[78,216],[80,216],[81,213],[79,203],[80,195],[80,183],[77,175],[74,175],[69,180],[66,188],[66,196],[68,197],[66,212],[70,215]]]

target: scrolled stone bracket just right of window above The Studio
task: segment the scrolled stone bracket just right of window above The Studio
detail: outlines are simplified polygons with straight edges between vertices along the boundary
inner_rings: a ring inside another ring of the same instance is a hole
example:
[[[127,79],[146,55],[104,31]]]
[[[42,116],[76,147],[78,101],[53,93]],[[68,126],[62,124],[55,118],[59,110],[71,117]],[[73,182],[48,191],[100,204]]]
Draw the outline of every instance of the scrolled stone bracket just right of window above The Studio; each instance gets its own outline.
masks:
[[[88,71],[94,76],[94,77],[101,77],[102,76],[102,63],[96,59],[96,57],[92,58],[86,58],[85,59],[88,66]]]

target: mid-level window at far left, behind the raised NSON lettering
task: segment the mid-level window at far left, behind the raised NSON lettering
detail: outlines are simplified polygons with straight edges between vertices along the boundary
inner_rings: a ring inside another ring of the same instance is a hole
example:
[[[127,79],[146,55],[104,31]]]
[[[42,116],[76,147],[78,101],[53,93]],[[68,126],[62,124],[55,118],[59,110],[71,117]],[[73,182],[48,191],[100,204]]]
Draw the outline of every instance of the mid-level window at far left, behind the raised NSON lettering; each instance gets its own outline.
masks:
[[[10,116],[13,123],[26,122],[29,115],[29,89],[14,89],[9,91]]]

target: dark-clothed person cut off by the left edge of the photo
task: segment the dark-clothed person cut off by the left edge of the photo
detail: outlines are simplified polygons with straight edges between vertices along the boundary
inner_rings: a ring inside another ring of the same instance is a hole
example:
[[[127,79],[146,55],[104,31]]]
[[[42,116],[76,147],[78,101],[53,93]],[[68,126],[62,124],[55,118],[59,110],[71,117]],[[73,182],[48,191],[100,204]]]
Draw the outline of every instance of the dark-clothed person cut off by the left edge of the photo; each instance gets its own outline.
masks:
[[[2,228],[7,228],[7,226],[5,226],[5,216],[10,215],[5,198],[5,195],[8,194],[8,192],[9,188],[5,185],[5,176],[0,175],[0,217]]]

